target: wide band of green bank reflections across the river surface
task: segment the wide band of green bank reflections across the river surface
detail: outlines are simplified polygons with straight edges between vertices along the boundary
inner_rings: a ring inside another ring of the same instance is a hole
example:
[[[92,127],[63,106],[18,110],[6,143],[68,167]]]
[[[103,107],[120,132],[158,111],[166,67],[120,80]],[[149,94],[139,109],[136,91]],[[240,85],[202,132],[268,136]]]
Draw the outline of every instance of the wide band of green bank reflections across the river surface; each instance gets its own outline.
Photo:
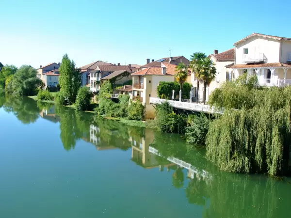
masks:
[[[179,135],[97,119],[94,114],[35,102],[0,97],[0,108],[23,124],[38,118],[59,123],[65,150],[85,140],[97,150],[131,150],[131,161],[145,169],[172,175],[172,186],[185,192],[190,204],[202,208],[202,217],[289,217],[290,178],[242,175],[220,171],[205,159],[205,148],[187,145]]]

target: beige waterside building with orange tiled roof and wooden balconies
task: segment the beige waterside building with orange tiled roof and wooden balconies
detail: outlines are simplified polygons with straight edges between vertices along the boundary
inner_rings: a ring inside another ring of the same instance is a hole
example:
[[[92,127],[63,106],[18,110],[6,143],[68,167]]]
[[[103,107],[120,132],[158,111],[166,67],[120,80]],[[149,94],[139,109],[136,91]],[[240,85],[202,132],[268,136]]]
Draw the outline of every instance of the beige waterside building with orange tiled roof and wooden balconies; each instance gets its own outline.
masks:
[[[137,71],[132,76],[132,96],[133,100],[139,99],[146,107],[145,118],[155,117],[155,109],[149,103],[150,97],[158,97],[157,87],[161,81],[175,81],[175,64],[163,62],[161,66],[147,67]],[[187,82],[191,82],[189,75]]]

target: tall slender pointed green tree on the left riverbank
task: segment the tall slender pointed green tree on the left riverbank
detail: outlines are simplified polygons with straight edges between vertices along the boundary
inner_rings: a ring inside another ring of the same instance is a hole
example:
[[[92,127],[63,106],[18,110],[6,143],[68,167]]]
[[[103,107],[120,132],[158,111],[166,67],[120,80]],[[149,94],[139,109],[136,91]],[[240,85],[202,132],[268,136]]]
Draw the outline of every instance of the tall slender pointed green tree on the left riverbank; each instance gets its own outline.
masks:
[[[69,59],[65,54],[60,66],[59,83],[61,92],[64,94],[68,104],[73,104],[76,101],[78,90],[81,86],[80,69],[76,68],[75,62]]]

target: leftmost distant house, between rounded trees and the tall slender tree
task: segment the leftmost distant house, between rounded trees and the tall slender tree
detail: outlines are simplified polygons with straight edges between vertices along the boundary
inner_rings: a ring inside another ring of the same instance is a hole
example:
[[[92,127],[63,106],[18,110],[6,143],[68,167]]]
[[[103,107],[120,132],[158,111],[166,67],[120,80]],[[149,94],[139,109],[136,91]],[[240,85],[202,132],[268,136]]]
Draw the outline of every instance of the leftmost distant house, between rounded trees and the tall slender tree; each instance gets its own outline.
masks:
[[[60,74],[58,69],[60,65],[61,63],[49,63],[45,66],[40,65],[40,68],[37,69],[36,77],[44,82],[45,87],[56,86],[59,84]]]

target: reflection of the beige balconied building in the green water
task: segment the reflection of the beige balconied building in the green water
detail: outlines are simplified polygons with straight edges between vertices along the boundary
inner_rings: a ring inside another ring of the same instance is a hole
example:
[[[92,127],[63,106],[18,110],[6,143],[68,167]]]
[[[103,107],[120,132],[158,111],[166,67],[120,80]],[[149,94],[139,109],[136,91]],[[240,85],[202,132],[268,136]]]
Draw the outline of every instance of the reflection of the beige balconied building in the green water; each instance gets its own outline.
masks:
[[[164,167],[174,165],[166,159],[149,152],[149,144],[154,140],[154,132],[149,129],[145,131],[145,137],[129,138],[129,141],[131,141],[131,160],[145,168],[160,167],[160,171],[163,171]]]

